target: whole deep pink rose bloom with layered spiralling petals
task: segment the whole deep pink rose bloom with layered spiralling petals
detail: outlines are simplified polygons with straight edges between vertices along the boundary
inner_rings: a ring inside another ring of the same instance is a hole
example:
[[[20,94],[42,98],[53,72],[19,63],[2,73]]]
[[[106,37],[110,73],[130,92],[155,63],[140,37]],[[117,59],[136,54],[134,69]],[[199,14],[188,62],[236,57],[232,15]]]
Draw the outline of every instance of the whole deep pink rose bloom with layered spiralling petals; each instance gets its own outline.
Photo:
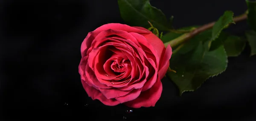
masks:
[[[81,82],[89,97],[105,105],[151,107],[161,96],[171,55],[172,48],[148,29],[105,24],[81,44]]]

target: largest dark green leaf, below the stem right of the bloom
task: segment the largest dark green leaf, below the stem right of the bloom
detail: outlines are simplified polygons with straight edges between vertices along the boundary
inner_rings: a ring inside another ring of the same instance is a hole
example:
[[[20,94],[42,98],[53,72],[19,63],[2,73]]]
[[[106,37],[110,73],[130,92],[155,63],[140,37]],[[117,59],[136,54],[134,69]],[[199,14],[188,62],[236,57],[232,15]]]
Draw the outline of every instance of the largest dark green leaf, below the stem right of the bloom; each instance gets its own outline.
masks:
[[[212,38],[212,29],[192,37],[178,51],[174,50],[170,68],[177,73],[167,72],[168,77],[177,85],[180,95],[195,91],[207,78],[224,72],[227,67],[227,54],[222,43],[214,41],[210,50],[204,45]],[[221,34],[220,37],[225,37]]]

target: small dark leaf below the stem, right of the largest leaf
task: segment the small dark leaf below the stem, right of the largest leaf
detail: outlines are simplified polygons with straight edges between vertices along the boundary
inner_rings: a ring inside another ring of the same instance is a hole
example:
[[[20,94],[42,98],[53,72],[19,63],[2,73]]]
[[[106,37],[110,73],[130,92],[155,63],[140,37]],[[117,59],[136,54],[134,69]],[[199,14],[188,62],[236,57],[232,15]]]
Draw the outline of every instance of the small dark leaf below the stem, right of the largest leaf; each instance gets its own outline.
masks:
[[[221,45],[224,45],[228,57],[236,57],[244,50],[246,40],[242,37],[221,32],[219,37],[212,42],[210,50],[216,49]]]

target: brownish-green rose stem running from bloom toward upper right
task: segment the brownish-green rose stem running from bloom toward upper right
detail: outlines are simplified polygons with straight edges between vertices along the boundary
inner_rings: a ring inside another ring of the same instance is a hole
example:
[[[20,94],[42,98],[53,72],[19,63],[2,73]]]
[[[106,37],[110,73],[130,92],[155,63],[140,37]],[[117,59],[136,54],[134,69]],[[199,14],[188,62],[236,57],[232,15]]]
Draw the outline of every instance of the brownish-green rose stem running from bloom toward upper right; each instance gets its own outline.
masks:
[[[235,22],[239,22],[239,21],[245,20],[245,19],[247,19],[247,12],[234,17],[233,20]],[[211,29],[214,26],[214,24],[215,24],[215,22],[207,23],[201,27],[194,29],[191,32],[184,33],[180,37],[177,37],[169,42],[164,43],[164,46],[170,45],[171,47],[176,47],[176,46],[180,45],[181,43],[185,42],[186,40],[189,40],[191,37],[194,37],[195,35],[198,35],[199,33],[204,32],[207,29]]]

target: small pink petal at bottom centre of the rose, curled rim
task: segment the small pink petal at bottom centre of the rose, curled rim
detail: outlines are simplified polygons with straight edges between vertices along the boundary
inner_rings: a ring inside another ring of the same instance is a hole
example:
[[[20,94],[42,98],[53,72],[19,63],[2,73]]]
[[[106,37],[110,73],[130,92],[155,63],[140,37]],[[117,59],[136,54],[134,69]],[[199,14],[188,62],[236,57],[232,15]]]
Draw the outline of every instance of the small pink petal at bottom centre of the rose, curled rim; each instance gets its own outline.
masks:
[[[133,89],[127,95],[116,98],[116,100],[119,101],[121,104],[124,103],[124,102],[127,102],[127,101],[132,101],[140,95],[141,90],[142,90],[141,88],[140,89]]]

